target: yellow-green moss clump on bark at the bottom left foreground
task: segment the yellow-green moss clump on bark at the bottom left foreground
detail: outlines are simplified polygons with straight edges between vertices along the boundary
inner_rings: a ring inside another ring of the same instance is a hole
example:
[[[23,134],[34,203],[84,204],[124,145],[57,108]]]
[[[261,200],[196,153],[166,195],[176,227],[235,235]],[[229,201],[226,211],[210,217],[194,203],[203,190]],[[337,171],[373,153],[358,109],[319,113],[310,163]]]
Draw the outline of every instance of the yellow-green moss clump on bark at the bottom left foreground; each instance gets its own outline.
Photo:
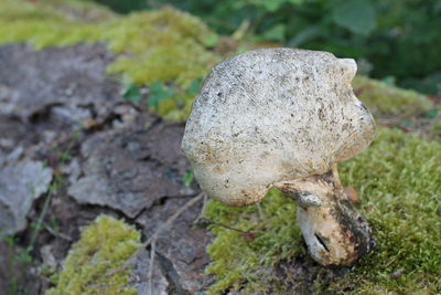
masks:
[[[46,295],[137,294],[129,283],[130,270],[117,272],[140,246],[140,233],[108,215],[98,217],[75,243],[57,276],[57,285]]]

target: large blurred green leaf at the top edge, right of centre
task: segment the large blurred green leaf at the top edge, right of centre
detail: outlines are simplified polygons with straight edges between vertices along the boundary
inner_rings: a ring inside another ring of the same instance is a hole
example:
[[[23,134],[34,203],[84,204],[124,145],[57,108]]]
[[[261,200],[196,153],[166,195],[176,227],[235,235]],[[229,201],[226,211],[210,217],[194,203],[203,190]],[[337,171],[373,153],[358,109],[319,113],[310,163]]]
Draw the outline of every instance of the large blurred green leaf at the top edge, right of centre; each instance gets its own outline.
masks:
[[[334,22],[353,33],[369,34],[376,27],[375,10],[369,0],[349,0],[335,6]]]

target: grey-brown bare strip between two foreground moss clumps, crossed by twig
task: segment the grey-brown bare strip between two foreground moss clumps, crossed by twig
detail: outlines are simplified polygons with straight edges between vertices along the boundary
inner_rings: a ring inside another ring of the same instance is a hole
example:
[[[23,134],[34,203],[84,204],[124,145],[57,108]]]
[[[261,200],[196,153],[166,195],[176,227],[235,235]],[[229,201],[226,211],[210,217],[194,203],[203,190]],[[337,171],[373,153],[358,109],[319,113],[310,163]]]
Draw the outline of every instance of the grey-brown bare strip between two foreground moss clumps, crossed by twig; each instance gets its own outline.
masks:
[[[186,201],[189,198],[169,198],[163,206],[142,212],[137,222],[143,228],[147,239]],[[209,278],[204,275],[204,268],[209,262],[205,252],[209,236],[204,229],[193,228],[201,210],[202,203],[197,203],[183,212],[171,228],[161,232],[157,241],[161,265],[179,294],[196,294],[209,283]]]

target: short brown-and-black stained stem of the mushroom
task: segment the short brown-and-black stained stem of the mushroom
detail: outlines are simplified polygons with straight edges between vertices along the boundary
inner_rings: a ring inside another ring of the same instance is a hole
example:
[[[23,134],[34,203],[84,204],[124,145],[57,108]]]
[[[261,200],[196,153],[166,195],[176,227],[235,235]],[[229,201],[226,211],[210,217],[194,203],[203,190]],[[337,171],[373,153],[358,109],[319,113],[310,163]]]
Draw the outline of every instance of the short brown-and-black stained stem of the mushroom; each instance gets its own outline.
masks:
[[[367,221],[345,194],[336,165],[320,176],[273,185],[299,206],[297,220],[312,257],[322,265],[353,265],[375,246]]]

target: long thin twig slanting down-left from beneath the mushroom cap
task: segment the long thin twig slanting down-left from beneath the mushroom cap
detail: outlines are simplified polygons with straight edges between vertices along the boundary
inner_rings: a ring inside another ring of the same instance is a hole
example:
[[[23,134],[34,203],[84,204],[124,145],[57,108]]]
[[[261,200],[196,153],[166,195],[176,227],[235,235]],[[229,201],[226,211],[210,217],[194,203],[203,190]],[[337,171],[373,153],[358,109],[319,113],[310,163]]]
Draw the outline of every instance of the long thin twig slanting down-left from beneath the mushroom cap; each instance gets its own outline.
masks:
[[[121,267],[108,272],[105,276],[114,275],[116,273],[122,272],[123,270],[127,268],[127,266],[130,265],[130,263],[139,255],[139,253],[142,251],[142,249],[146,249],[148,245],[150,245],[153,241],[157,241],[159,234],[164,231],[166,228],[169,228],[183,212],[185,212],[193,204],[197,203],[203,199],[205,193],[201,192],[196,197],[192,198],[190,201],[187,201],[183,207],[181,207],[176,212],[174,212],[173,215],[171,215],[168,220],[165,220],[164,223],[162,223],[158,230],[150,236],[149,240],[147,240],[144,243],[141,244],[141,246],[121,265]]]

